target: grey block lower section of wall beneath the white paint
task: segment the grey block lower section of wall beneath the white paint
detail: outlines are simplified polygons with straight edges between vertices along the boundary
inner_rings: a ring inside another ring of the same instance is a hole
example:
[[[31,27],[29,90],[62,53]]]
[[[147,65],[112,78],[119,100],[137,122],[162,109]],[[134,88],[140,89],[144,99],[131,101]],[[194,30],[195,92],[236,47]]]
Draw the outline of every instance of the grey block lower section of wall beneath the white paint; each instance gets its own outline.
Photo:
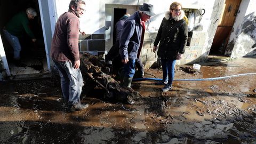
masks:
[[[140,59],[145,68],[159,65],[159,59],[153,52],[153,43],[157,33],[145,33]],[[177,61],[177,65],[185,65],[199,61],[205,44],[206,33],[194,31],[191,37],[190,45],[186,47],[186,51],[181,60]],[[82,52],[90,52],[92,54],[103,55],[105,53],[105,34],[89,34],[79,36],[79,50]]]

